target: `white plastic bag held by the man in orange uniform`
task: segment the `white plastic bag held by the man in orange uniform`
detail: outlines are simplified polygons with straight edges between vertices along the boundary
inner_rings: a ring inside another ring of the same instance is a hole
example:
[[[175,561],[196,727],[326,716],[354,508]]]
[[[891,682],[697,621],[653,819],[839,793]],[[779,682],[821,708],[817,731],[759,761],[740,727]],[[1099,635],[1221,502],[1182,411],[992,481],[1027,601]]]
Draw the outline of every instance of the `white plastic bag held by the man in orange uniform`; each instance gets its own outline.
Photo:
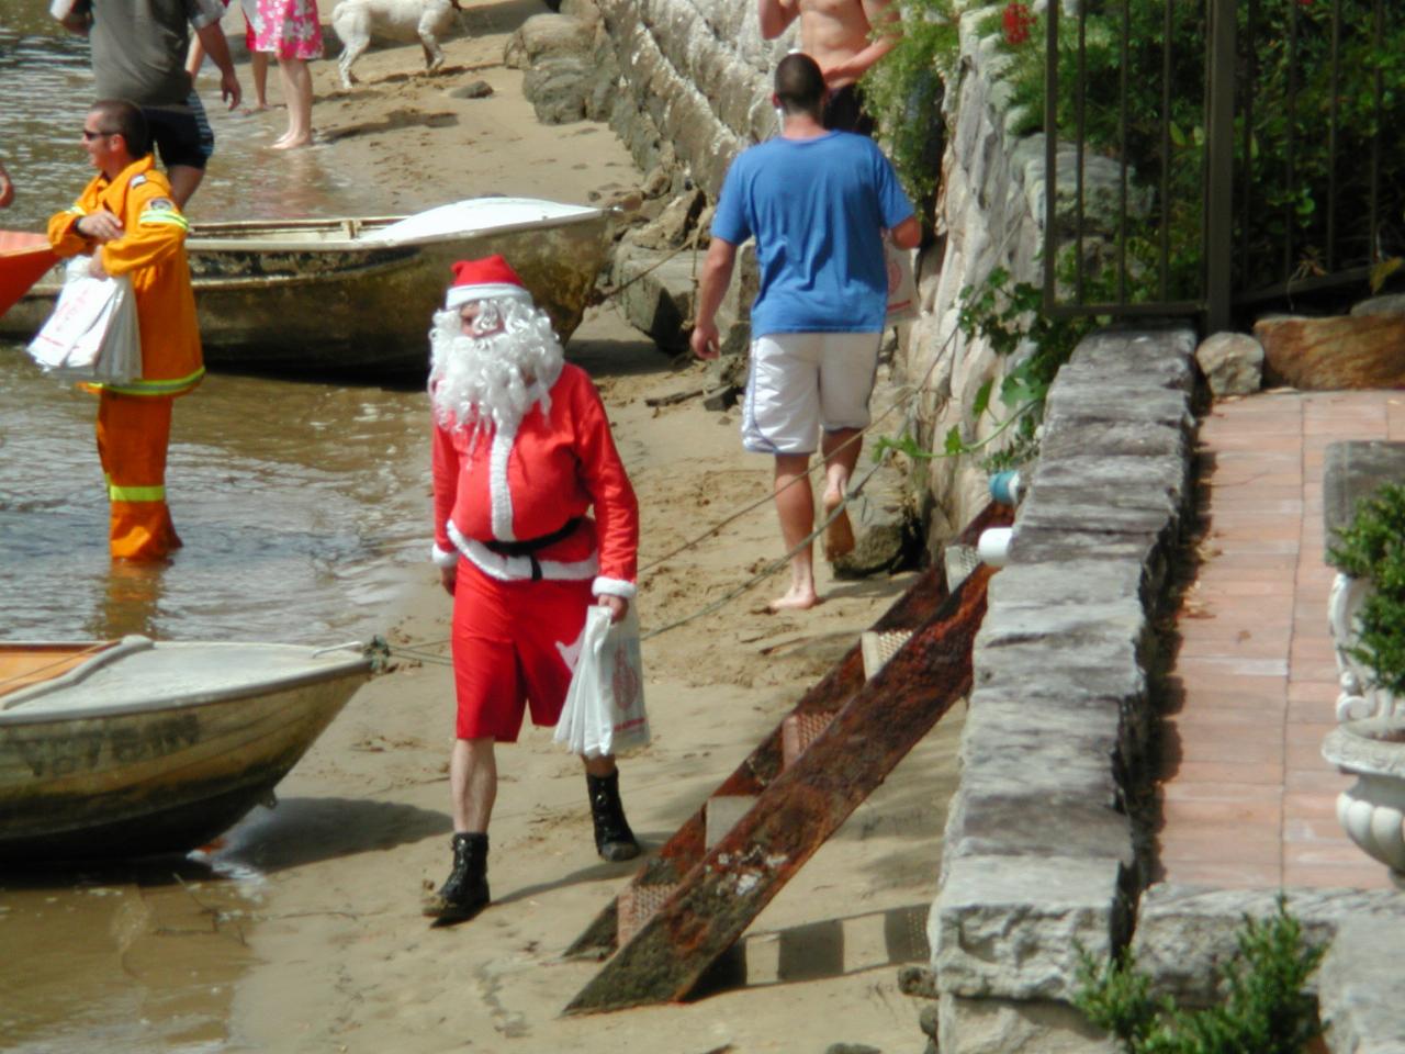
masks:
[[[126,275],[93,278],[87,257],[74,257],[30,354],[45,372],[73,381],[126,384],[142,375],[136,301]]]

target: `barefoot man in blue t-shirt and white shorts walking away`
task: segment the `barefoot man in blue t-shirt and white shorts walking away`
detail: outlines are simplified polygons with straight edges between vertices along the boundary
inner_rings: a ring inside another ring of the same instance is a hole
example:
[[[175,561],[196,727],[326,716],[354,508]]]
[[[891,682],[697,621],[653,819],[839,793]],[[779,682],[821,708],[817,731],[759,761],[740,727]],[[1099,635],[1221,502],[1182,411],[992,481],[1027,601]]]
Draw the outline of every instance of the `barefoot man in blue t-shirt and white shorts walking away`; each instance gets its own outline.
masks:
[[[717,358],[718,305],[732,280],[736,247],[756,239],[762,282],[752,304],[752,361],[743,445],[776,455],[776,512],[791,555],[790,590],[773,611],[813,607],[809,457],[823,427],[825,514],[844,500],[858,462],[878,341],[888,306],[882,232],[899,249],[922,238],[898,174],[874,143],[821,124],[825,77],[812,58],[787,55],[776,67],[773,103],[781,135],[743,150],[722,183],[712,243],[702,264],[693,351]],[[833,559],[854,545],[839,512],[825,533]]]

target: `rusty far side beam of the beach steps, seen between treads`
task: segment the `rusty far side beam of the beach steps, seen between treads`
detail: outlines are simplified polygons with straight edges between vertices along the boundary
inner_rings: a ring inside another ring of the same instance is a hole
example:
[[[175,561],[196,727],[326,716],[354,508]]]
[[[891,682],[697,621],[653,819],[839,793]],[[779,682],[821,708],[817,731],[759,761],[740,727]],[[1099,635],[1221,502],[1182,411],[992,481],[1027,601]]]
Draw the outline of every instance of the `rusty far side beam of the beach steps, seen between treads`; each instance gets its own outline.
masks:
[[[975,519],[967,524],[965,530],[954,540],[957,544],[976,544],[981,533],[989,527],[1006,527],[1010,524],[1013,512],[1000,505],[988,505]],[[898,630],[915,630],[929,620],[941,603],[947,599],[946,573],[940,565],[929,568],[917,576],[916,582],[894,601],[877,623],[873,632],[892,632]],[[843,658],[801,697],[791,714],[805,713],[835,713],[843,707],[864,683],[863,648],[856,644]],[[728,776],[710,797],[738,794],[759,794],[783,769],[783,728],[784,718],[774,731],[762,741],[736,770]],[[651,856],[643,867],[631,881],[631,888],[639,885],[665,885],[681,881],[705,852],[704,839],[707,833],[705,802],[694,812],[681,828]],[[618,930],[618,906],[611,899],[584,932],[566,949],[566,958],[606,958],[613,954]]]

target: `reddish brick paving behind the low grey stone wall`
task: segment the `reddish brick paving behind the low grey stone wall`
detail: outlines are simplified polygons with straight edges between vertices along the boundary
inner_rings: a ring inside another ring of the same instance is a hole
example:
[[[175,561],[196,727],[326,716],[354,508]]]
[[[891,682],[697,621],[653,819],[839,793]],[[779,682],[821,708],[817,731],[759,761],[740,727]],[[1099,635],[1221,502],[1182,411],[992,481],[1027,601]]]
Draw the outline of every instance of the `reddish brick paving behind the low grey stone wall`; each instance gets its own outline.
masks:
[[[1405,392],[1262,392],[1200,426],[1205,533],[1176,616],[1159,878],[1235,888],[1391,888],[1336,822],[1352,779],[1335,724],[1322,464],[1336,440],[1405,441]]]

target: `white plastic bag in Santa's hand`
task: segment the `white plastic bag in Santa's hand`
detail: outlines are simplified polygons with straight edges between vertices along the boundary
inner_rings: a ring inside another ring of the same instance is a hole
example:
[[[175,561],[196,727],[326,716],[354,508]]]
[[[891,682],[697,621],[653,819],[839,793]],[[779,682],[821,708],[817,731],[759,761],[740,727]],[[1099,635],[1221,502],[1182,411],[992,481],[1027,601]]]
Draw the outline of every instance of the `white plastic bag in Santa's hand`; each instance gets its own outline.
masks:
[[[639,661],[639,618],[634,604],[618,623],[592,604],[580,634],[580,658],[552,736],[572,753],[600,757],[649,743]]]

